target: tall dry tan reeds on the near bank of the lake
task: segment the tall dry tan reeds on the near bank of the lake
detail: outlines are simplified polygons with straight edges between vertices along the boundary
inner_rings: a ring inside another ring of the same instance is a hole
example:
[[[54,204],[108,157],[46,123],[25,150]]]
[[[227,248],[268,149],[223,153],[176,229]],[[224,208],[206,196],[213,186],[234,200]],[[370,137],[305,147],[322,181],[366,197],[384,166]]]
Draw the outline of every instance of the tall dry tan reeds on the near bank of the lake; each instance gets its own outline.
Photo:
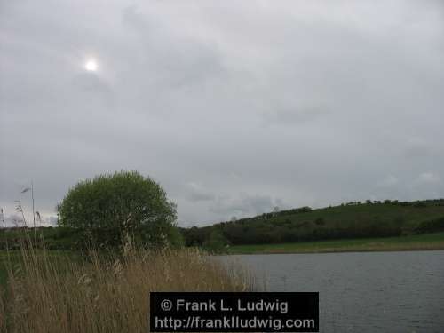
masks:
[[[244,291],[249,275],[228,271],[199,250],[128,250],[88,260],[21,251],[0,286],[0,330],[7,332],[147,332],[150,291]],[[3,289],[2,289],[3,288]]]

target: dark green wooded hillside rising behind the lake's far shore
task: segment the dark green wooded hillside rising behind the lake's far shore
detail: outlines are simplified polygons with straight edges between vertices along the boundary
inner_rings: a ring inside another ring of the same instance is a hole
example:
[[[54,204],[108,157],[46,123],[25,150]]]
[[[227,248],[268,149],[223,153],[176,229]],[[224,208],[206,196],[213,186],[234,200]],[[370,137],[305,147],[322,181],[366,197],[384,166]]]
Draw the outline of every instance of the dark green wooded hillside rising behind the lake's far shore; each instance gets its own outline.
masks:
[[[349,202],[303,207],[213,226],[182,229],[187,245],[218,234],[231,245],[391,237],[444,231],[444,199],[420,202]]]

